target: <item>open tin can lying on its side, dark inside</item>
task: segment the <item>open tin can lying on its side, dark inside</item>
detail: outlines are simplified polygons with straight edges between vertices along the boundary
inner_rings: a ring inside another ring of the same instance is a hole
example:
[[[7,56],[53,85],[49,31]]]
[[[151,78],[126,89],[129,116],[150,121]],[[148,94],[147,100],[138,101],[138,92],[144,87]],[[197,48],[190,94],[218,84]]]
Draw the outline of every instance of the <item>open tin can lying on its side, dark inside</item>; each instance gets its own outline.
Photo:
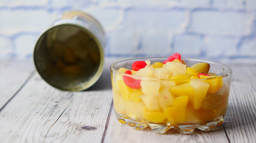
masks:
[[[36,40],[33,60],[40,76],[66,91],[91,87],[104,68],[105,35],[92,16],[65,12]]]

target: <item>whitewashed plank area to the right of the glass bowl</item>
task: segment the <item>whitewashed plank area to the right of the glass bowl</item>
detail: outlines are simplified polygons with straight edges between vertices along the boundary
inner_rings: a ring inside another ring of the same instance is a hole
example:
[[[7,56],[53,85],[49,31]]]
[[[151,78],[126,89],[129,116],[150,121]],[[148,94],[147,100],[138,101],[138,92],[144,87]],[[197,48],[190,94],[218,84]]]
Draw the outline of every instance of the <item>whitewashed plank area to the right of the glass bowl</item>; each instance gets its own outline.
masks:
[[[256,142],[256,65],[231,65],[225,130],[232,143]]]

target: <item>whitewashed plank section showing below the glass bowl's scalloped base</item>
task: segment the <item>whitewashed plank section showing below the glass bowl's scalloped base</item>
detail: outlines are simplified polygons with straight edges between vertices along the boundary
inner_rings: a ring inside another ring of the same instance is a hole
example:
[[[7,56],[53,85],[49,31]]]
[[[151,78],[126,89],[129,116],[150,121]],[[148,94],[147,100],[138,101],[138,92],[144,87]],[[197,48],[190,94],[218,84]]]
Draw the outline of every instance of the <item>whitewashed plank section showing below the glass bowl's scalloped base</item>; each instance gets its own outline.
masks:
[[[134,130],[126,124],[118,122],[115,112],[111,112],[108,130],[104,139],[104,143],[113,142],[122,143],[167,143],[167,142],[198,142],[198,143],[227,143],[227,137],[222,126],[217,126],[216,129],[210,132],[204,132],[196,129],[191,135],[182,135],[174,129],[170,129],[164,134],[155,134],[149,127],[142,130]]]

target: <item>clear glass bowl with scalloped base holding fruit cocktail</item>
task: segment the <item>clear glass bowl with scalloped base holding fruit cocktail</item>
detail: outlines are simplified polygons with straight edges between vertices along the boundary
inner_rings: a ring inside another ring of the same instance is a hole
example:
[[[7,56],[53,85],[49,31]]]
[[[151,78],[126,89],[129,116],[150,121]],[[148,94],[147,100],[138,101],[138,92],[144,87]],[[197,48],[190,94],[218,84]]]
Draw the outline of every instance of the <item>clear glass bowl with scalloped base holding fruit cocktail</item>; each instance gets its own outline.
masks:
[[[208,74],[211,76],[200,79],[196,76],[146,78],[126,74],[122,70],[132,70],[135,61],[149,60],[153,64],[167,58],[134,58],[118,61],[110,66],[113,103],[118,121],[136,130],[149,126],[157,134],[163,134],[172,128],[182,134],[190,134],[196,128],[210,131],[216,125],[221,125],[228,105],[232,76],[230,67],[213,61],[182,58],[185,67],[201,62],[210,65]],[[128,87],[124,82],[127,77],[133,82],[139,82],[140,87]]]

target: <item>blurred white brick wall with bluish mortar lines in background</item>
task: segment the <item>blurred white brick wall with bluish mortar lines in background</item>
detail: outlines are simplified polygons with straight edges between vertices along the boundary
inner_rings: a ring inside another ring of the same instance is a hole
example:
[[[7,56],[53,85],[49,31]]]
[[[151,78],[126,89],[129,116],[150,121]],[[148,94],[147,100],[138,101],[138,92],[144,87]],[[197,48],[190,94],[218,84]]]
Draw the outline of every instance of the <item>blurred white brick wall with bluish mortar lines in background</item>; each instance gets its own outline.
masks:
[[[106,56],[256,63],[255,0],[1,0],[0,58],[32,58],[37,36],[73,9],[102,23]]]

